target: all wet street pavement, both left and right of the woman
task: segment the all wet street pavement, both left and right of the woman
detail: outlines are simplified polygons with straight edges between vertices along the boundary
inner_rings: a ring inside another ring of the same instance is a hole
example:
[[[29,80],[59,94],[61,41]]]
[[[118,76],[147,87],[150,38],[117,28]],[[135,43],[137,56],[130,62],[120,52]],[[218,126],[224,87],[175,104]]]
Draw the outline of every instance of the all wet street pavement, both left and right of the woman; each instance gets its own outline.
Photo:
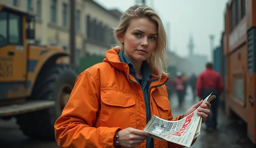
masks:
[[[196,102],[192,100],[191,91],[188,90],[182,108],[178,107],[175,94],[171,96],[171,109],[173,116],[183,115]],[[218,130],[207,133],[203,130],[191,148],[255,148],[246,135],[245,124],[238,120],[231,120],[219,109]],[[0,148],[58,148],[55,141],[30,140],[19,130],[15,119],[0,120]]]

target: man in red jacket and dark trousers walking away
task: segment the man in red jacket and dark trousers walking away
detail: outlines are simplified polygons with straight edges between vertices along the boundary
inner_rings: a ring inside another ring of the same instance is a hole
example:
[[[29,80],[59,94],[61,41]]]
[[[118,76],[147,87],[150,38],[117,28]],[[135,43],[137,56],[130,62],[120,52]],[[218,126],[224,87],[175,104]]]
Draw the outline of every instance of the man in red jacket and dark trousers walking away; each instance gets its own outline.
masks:
[[[212,63],[206,64],[206,70],[198,76],[196,87],[197,95],[201,99],[205,99],[212,92],[212,95],[216,96],[216,98],[210,102],[211,113],[206,121],[207,130],[216,130],[218,96],[222,93],[224,85],[221,76],[213,70]]]

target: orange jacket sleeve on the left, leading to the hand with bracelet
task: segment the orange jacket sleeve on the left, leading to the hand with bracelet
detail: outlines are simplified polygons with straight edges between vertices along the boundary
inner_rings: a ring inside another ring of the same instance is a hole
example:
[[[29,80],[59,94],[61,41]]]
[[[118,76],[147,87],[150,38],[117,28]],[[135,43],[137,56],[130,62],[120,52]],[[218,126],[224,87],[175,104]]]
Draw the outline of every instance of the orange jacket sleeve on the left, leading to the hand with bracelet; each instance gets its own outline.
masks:
[[[113,147],[114,134],[121,128],[93,127],[100,104],[99,84],[95,80],[87,71],[78,76],[69,101],[54,125],[59,147]]]

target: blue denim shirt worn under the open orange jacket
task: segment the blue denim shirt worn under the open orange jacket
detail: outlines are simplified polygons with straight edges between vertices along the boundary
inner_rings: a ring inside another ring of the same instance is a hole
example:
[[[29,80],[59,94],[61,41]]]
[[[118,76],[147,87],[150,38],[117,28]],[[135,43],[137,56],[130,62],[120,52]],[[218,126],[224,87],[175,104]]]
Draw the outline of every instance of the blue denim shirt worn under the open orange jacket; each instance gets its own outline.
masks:
[[[133,64],[131,61],[126,57],[126,55],[121,51],[119,53],[119,59],[121,62],[126,63],[129,66],[129,73],[135,78],[135,80],[139,83],[138,78],[136,76],[136,69],[133,67]],[[147,83],[149,81],[150,76],[152,74],[149,64],[147,64],[146,61],[142,62],[142,72],[143,72],[143,79],[141,83],[141,88],[143,90],[143,96],[145,101],[145,108],[146,108],[146,121],[149,122],[151,118],[150,113],[150,104],[149,104],[149,85],[150,83]],[[153,138],[149,137],[146,139],[146,148],[153,148]]]

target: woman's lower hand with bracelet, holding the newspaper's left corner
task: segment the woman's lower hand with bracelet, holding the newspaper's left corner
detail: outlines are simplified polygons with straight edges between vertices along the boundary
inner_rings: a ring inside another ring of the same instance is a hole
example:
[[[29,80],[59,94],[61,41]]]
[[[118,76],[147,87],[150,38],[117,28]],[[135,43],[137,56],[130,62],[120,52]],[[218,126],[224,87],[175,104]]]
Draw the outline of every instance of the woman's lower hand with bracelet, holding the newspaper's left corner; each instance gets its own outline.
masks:
[[[126,128],[118,132],[118,141],[124,148],[139,146],[151,134],[134,128]]]

